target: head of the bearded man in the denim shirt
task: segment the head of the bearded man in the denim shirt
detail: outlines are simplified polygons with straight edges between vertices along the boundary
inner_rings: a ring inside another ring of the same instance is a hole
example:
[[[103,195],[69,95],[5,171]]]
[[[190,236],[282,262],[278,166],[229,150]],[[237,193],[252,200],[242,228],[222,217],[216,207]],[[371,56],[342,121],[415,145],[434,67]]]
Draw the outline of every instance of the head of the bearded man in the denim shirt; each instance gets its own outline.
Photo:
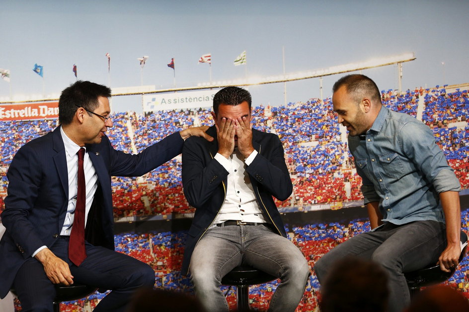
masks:
[[[332,105],[337,122],[347,127],[349,135],[365,134],[381,109],[381,93],[375,82],[364,75],[347,75],[332,88]]]

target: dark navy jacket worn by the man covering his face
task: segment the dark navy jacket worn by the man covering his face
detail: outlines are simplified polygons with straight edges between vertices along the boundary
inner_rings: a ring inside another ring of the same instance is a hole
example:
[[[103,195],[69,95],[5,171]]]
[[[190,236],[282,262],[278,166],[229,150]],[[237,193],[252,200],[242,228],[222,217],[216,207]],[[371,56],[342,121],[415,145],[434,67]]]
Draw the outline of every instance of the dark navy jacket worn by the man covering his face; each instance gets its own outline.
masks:
[[[182,149],[184,195],[189,204],[196,208],[184,251],[184,274],[189,271],[192,251],[218,215],[227,191],[228,171],[214,159],[218,152],[217,129],[212,126],[207,133],[215,140],[209,142],[192,136],[186,139]],[[246,171],[257,203],[278,234],[287,237],[280,213],[272,198],[275,196],[279,200],[285,200],[293,191],[282,142],[273,133],[252,129],[252,145],[258,154],[246,167]]]

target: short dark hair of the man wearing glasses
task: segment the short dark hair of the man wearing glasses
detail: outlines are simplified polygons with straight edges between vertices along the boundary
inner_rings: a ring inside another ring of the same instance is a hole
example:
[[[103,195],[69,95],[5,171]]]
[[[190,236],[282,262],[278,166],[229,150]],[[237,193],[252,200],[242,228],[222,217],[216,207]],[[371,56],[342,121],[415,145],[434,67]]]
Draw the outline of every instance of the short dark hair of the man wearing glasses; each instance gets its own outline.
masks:
[[[99,106],[98,97],[100,96],[111,97],[111,89],[94,82],[81,80],[65,88],[59,98],[59,124],[69,125],[72,123],[79,107],[93,112]],[[88,115],[91,114],[88,113]]]

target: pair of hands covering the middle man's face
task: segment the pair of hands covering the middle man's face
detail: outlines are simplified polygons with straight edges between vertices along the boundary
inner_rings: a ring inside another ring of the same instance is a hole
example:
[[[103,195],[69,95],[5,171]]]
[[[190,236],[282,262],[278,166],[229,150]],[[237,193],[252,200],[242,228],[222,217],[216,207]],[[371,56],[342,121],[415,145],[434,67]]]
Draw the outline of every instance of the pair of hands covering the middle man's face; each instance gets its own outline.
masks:
[[[249,125],[249,119],[245,116],[237,119],[222,118],[220,126],[217,127],[218,153],[227,159],[234,150],[234,136],[237,138],[237,147],[239,152],[247,158],[253,151],[252,147],[252,129]]]

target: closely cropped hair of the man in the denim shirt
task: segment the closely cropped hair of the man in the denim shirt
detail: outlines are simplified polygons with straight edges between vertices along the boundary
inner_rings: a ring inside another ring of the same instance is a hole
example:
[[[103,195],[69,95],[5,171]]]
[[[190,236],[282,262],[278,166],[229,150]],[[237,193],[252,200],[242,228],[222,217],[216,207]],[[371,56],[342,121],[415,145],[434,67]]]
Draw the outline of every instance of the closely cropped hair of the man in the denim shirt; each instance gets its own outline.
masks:
[[[378,86],[375,81],[365,75],[343,76],[334,83],[332,92],[337,91],[341,86],[345,86],[347,92],[357,101],[357,104],[365,97],[376,103],[381,103],[381,92]]]

